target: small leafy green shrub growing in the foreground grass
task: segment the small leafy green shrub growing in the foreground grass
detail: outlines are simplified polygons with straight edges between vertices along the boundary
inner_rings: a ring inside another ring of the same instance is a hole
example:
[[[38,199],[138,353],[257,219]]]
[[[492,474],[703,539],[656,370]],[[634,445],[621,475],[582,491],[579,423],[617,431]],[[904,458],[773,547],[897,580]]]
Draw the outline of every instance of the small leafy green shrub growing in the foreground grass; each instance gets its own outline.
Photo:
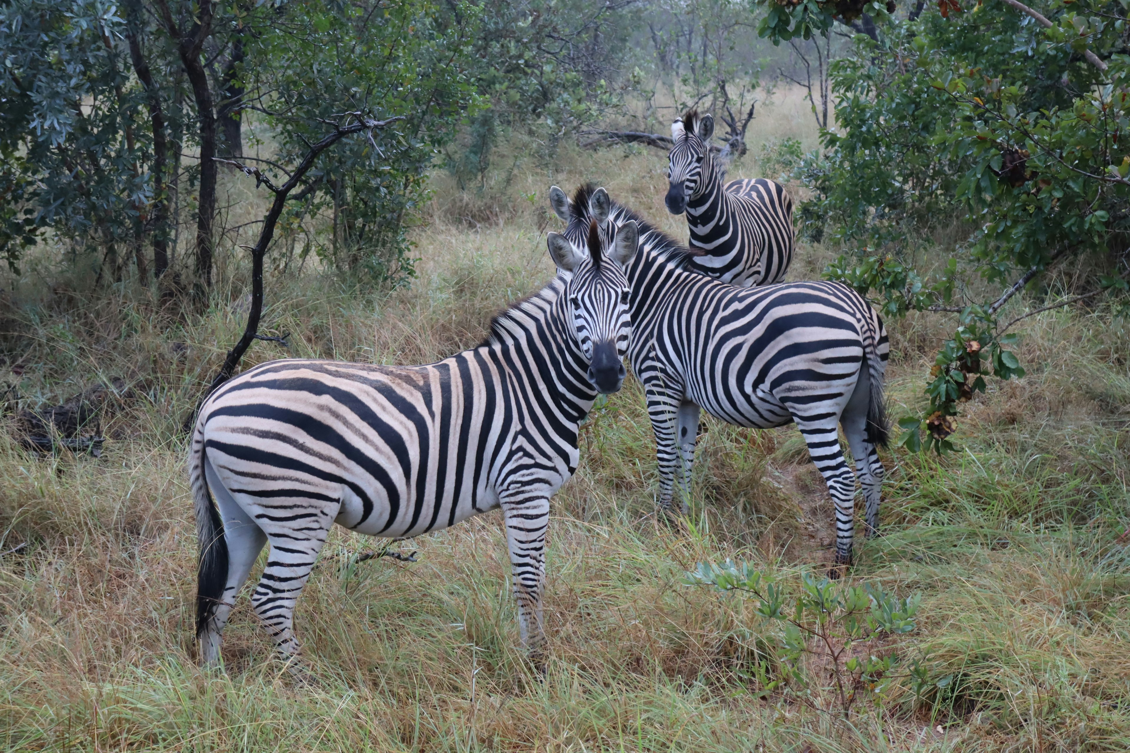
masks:
[[[688,585],[712,585],[757,599],[755,613],[776,624],[783,684],[811,706],[847,718],[860,699],[881,703],[894,681],[897,658],[893,653],[876,656],[880,636],[913,632],[921,596],[899,599],[871,584],[853,586],[827,578],[817,580],[801,573],[801,587],[790,595],[786,587],[749,563],[698,563],[687,573]],[[912,668],[923,675],[920,665]],[[766,692],[782,685],[767,680],[770,669],[759,665],[758,677]],[[824,677],[829,685],[823,685]],[[831,691],[832,700],[823,701]],[[834,706],[833,706],[834,704]]]

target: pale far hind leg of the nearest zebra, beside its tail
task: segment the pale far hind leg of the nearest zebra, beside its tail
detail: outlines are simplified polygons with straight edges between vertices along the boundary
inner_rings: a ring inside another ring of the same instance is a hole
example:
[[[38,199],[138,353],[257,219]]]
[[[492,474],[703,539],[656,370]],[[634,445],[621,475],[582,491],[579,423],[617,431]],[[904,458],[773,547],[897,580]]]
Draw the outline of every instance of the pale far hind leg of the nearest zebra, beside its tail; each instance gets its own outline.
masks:
[[[205,476],[224,520],[224,539],[227,544],[227,584],[224,595],[216,605],[216,613],[200,633],[200,659],[203,666],[219,664],[220,636],[235,606],[235,597],[255,564],[259,552],[267,543],[262,528],[247,515],[216,478],[210,461],[205,461]]]

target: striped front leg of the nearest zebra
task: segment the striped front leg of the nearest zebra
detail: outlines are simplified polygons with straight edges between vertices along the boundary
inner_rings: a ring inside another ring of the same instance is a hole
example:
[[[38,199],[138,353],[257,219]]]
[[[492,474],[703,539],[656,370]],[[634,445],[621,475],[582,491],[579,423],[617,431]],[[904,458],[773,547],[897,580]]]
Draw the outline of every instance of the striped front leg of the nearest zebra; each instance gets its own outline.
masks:
[[[519,633],[533,666],[545,674],[546,634],[541,619],[541,596],[546,586],[549,498],[502,500],[502,510],[514,579],[514,599],[518,602]]]

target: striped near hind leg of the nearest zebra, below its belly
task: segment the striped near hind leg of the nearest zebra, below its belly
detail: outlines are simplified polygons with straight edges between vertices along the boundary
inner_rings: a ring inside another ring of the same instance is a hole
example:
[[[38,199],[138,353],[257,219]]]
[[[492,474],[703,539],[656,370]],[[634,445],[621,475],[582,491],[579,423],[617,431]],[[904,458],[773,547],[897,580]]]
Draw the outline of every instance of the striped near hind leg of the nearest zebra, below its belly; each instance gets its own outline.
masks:
[[[263,576],[251,595],[251,603],[279,654],[284,659],[294,660],[292,669],[299,675],[304,673],[298,662],[298,641],[294,637],[294,605],[310,579],[314,560],[325,543],[337,513],[337,506],[332,513],[320,509],[322,506],[312,502],[306,513],[285,516],[261,513],[255,516],[267,532],[271,549]]]

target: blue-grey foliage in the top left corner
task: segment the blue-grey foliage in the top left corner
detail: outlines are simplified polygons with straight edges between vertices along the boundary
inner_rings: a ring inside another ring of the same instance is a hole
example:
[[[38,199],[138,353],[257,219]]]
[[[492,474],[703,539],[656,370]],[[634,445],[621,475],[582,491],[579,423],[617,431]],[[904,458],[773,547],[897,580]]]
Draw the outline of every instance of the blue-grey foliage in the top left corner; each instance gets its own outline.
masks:
[[[0,6],[0,256],[14,271],[45,228],[114,248],[149,199],[116,12],[108,0]]]

